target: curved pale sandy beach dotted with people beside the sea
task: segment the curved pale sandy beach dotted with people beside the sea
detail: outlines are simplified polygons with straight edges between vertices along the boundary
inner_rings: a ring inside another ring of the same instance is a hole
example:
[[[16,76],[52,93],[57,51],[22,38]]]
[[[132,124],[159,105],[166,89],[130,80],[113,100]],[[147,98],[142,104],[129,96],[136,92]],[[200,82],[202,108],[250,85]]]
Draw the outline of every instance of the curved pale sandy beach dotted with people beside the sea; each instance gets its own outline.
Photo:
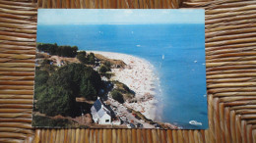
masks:
[[[148,119],[156,119],[157,103],[156,81],[154,67],[148,61],[134,56],[112,53],[87,51],[100,54],[108,59],[122,60],[126,67],[124,69],[111,69],[114,73],[112,80],[118,80],[126,84],[135,92],[137,103],[124,103],[124,106],[140,112]]]

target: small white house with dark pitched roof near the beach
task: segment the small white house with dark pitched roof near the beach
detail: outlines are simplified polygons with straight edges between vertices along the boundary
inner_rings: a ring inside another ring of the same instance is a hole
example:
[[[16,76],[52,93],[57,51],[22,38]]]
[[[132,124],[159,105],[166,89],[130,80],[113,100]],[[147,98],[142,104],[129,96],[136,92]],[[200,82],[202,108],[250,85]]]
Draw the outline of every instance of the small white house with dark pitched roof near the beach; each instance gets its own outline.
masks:
[[[93,119],[98,124],[111,124],[110,111],[105,107],[102,101],[97,98],[93,107],[91,108]]]

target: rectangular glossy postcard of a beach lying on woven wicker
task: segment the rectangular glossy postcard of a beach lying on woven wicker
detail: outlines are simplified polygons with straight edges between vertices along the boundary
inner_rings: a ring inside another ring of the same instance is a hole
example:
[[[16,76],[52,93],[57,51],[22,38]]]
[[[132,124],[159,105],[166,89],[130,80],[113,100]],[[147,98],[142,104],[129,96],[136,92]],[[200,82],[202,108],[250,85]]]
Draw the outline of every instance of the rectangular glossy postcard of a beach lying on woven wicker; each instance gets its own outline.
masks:
[[[39,9],[32,126],[207,129],[205,11]]]

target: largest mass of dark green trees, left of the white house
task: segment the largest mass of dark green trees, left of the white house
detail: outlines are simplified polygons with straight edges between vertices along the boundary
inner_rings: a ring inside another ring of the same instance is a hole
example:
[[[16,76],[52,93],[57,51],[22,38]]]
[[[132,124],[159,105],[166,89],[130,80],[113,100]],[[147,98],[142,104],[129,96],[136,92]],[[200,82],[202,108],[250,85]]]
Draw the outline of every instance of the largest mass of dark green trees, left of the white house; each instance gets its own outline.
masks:
[[[96,100],[103,84],[100,75],[83,64],[69,64],[57,71],[35,71],[36,109],[47,116],[78,115],[76,97]]]

